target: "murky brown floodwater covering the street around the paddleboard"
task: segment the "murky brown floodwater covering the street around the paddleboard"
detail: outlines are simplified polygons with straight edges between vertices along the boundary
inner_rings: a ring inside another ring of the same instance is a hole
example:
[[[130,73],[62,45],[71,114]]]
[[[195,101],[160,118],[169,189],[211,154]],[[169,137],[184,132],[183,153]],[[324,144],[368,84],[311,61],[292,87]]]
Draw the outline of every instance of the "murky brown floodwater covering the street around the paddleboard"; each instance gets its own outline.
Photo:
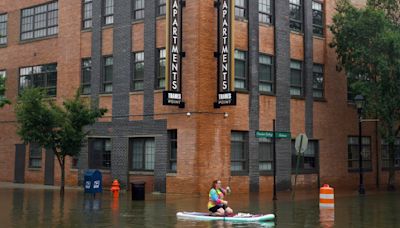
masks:
[[[4,185],[7,185],[4,187]],[[400,192],[357,192],[335,195],[335,209],[320,211],[318,192],[270,193],[228,196],[236,212],[275,213],[274,222],[228,223],[177,220],[178,211],[206,211],[207,196],[146,194],[131,201],[131,192],[119,199],[111,193],[85,195],[66,189],[0,183],[1,227],[400,227]]]

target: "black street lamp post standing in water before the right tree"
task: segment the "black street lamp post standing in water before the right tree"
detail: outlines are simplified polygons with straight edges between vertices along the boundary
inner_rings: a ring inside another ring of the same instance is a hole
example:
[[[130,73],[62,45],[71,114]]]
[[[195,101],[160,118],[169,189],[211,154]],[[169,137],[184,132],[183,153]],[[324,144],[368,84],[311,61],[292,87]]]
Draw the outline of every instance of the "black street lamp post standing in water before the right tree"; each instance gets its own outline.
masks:
[[[362,109],[365,103],[364,97],[362,95],[357,95],[354,98],[354,102],[357,106],[357,113],[358,113],[358,167],[360,173],[360,186],[358,187],[358,193],[360,195],[365,194],[364,188],[364,177],[363,177],[363,169],[362,169]]]

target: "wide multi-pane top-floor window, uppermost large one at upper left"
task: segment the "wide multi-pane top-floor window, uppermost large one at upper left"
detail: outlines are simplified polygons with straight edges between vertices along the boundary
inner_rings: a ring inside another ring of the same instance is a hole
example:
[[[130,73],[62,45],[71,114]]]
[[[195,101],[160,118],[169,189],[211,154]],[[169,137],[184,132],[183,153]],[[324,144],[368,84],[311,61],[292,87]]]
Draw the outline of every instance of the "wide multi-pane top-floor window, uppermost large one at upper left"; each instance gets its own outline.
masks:
[[[21,40],[52,36],[58,33],[58,3],[21,10]]]

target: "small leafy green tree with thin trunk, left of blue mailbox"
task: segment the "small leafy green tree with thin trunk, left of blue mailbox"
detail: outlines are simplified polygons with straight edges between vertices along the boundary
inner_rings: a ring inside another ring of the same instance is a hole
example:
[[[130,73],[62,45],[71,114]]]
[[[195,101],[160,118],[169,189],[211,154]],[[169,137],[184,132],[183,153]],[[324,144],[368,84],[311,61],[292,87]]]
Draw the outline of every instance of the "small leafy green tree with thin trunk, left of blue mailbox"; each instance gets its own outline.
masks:
[[[52,149],[61,168],[60,193],[64,195],[65,158],[78,156],[88,132],[85,126],[94,124],[106,109],[90,109],[79,91],[73,99],[57,105],[40,88],[24,89],[18,97],[15,113],[18,135],[25,143],[38,143]]]

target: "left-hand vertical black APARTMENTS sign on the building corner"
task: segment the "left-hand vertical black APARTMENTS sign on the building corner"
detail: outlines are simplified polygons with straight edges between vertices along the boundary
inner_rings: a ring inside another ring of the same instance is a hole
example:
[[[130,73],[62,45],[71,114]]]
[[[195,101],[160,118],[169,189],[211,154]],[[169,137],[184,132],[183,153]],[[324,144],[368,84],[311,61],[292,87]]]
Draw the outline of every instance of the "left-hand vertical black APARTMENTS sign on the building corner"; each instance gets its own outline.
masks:
[[[166,91],[163,92],[163,105],[185,107],[182,99],[182,0],[167,0],[166,20]]]

